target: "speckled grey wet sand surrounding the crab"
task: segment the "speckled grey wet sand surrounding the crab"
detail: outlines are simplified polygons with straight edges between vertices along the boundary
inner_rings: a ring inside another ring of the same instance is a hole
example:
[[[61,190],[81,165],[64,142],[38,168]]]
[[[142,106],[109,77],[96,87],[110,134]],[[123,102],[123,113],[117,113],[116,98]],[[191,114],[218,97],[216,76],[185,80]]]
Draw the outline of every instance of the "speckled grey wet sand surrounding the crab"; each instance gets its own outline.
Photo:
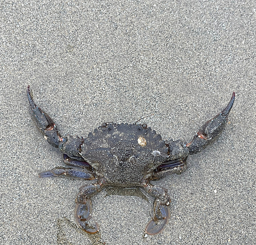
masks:
[[[58,1],[0,4],[0,244],[254,244],[255,3]],[[215,144],[181,175],[157,181],[172,198],[164,231],[144,235],[152,199],[103,190],[100,232],[75,224],[85,182],[39,179],[63,166],[29,112],[26,87],[62,136],[102,122],[143,122],[189,142],[236,101]]]

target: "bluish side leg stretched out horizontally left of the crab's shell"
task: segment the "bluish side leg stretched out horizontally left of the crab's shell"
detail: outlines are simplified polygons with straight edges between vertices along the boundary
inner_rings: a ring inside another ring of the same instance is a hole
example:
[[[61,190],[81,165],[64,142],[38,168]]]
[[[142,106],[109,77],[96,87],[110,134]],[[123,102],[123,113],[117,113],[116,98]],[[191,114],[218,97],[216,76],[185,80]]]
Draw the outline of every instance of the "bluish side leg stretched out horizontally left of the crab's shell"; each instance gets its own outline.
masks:
[[[52,170],[39,173],[39,177],[62,177],[68,179],[80,179],[90,181],[95,179],[94,175],[89,170],[76,167],[56,167],[53,168]]]

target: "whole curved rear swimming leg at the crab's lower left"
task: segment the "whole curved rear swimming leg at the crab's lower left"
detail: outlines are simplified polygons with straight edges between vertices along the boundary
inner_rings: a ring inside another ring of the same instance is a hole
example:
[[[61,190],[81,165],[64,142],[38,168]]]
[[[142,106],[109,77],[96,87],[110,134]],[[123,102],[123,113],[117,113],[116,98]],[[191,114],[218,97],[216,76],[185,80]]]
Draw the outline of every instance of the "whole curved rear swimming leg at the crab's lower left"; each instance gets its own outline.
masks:
[[[103,185],[95,183],[94,185],[83,186],[76,197],[75,218],[77,225],[83,231],[94,234],[99,231],[97,222],[92,217],[91,196],[100,192]]]

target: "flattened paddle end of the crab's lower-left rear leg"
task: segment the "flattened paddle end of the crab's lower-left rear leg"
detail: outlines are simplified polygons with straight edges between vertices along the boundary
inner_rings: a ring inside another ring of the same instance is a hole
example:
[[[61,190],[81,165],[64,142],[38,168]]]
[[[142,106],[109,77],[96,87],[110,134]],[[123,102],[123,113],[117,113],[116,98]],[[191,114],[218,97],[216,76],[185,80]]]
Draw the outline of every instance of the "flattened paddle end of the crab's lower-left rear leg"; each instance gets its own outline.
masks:
[[[75,209],[75,217],[77,225],[83,231],[90,234],[94,234],[99,231],[99,227],[96,221],[92,218],[92,202],[91,199],[87,198],[85,204],[77,204]]]

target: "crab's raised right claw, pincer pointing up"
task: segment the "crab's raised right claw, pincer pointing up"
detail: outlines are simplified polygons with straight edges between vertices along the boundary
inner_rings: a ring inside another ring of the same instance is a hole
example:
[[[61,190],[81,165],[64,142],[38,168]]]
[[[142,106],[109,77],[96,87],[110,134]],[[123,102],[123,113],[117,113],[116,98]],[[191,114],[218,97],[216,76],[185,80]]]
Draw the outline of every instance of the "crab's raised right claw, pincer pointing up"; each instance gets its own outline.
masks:
[[[207,121],[198,131],[194,139],[188,143],[189,154],[196,154],[205,149],[209,144],[215,141],[227,123],[228,114],[234,103],[234,92],[228,105],[216,117]]]

